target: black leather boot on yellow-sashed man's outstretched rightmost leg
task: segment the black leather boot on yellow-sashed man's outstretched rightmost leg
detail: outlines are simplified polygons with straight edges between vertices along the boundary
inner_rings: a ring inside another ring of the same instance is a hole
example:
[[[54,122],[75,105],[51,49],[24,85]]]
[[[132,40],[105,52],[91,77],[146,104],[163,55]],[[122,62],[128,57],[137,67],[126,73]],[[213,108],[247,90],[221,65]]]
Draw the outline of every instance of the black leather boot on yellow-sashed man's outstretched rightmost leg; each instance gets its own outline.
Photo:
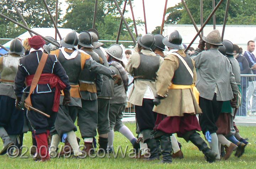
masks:
[[[190,135],[189,140],[198,147],[200,151],[206,156],[206,161],[209,163],[215,162],[217,154],[210,150],[206,142],[199,136],[198,133],[194,132]]]

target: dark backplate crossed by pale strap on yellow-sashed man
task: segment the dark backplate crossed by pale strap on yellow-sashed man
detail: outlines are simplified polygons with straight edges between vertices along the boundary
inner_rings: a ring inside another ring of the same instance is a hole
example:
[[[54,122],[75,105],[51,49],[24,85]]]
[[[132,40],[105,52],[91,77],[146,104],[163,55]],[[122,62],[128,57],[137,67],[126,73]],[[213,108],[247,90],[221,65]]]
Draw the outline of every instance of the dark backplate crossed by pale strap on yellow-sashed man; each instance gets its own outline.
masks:
[[[188,55],[186,57],[182,57],[182,58],[186,61],[186,63],[188,64],[188,66],[190,67],[190,69],[193,72],[194,66],[193,66],[191,58]],[[172,83],[177,84],[177,85],[192,85],[193,78],[189,74],[186,66],[182,63],[180,58],[178,58],[178,60],[179,60],[179,66],[178,66],[178,69],[175,70],[175,72],[174,72],[174,77],[172,78]]]

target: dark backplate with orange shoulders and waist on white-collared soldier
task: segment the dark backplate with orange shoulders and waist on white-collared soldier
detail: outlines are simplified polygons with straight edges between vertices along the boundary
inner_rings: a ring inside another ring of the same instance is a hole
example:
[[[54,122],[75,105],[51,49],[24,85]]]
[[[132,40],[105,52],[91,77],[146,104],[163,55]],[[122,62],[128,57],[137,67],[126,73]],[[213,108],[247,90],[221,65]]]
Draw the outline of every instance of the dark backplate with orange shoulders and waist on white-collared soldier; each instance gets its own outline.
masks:
[[[71,54],[73,51],[65,48],[65,52]],[[68,60],[59,49],[51,51],[50,54],[55,54],[57,56],[60,64],[62,64],[62,67],[69,77],[69,84],[71,86],[70,96],[73,98],[81,98],[79,90],[79,76],[81,70],[84,68],[85,61],[90,58],[90,55],[78,52],[75,58]]]

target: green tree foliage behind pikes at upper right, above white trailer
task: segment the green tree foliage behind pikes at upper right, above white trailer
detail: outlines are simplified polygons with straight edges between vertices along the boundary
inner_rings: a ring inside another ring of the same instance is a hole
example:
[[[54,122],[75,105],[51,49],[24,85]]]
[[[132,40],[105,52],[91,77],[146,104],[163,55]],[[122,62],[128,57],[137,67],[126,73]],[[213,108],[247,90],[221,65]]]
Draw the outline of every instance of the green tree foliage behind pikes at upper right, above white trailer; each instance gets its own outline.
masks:
[[[200,1],[185,0],[194,21],[200,24]],[[217,5],[219,0],[215,0]],[[230,0],[227,24],[234,25],[255,25],[256,24],[256,3],[255,0]],[[216,11],[216,24],[223,24],[226,9],[226,0],[222,2]],[[212,12],[212,0],[203,1],[203,20],[206,21]],[[182,2],[174,7],[170,7],[166,11],[167,24],[192,24],[187,11]],[[208,24],[213,24],[213,19],[210,19]]]

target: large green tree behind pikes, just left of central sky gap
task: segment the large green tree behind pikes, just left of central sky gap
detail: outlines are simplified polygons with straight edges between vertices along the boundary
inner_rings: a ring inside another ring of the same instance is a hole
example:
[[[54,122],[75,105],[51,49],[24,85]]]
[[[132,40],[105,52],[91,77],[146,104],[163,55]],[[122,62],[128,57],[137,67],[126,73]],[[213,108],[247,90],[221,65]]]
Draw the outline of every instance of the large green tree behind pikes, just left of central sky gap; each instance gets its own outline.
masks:
[[[95,0],[69,0],[67,3],[69,6],[63,19],[63,28],[78,32],[92,28]],[[124,0],[119,0],[118,4],[122,8]],[[116,39],[120,20],[121,16],[112,0],[98,0],[95,28],[100,33],[100,39]],[[126,18],[126,21],[134,31],[132,19]],[[137,24],[142,24],[142,21],[137,21]],[[131,39],[124,23],[119,39]]]

